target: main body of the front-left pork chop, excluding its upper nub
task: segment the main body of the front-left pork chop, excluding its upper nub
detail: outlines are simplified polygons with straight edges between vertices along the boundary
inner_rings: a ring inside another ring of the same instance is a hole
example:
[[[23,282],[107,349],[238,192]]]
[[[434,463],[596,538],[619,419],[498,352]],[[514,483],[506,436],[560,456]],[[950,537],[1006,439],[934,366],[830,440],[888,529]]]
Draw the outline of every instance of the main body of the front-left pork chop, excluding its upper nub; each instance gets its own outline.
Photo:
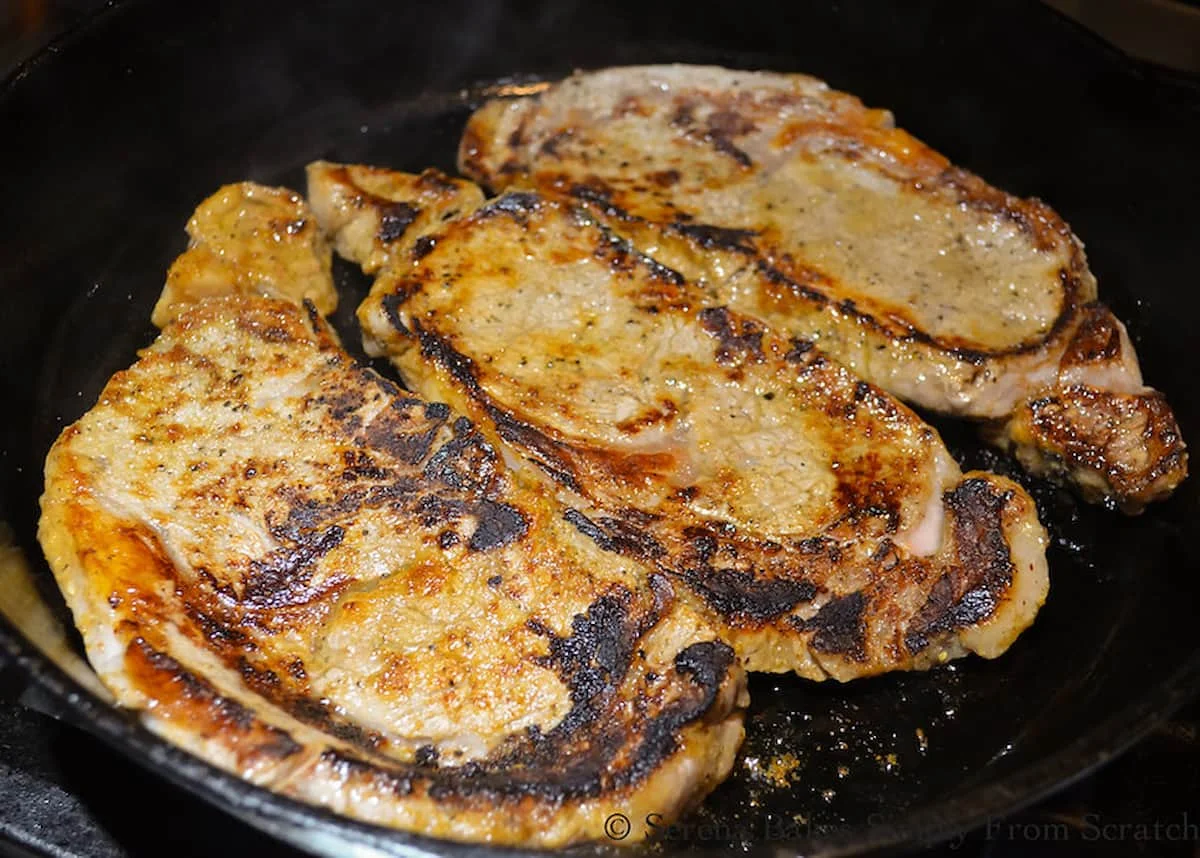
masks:
[[[698,800],[740,742],[733,652],[666,578],[295,305],[168,325],[54,445],[40,536],[120,703],[362,820],[600,839]]]

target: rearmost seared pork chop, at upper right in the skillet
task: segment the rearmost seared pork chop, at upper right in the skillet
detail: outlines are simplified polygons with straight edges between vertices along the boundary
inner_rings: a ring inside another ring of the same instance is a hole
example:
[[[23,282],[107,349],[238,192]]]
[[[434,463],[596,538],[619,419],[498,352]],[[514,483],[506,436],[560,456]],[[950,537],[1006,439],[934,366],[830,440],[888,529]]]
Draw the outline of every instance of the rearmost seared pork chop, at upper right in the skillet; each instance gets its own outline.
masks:
[[[908,402],[989,421],[1128,511],[1187,473],[1170,407],[1069,227],[802,74],[577,73],[485,104],[462,170],[588,205],[713,306],[818,341]]]

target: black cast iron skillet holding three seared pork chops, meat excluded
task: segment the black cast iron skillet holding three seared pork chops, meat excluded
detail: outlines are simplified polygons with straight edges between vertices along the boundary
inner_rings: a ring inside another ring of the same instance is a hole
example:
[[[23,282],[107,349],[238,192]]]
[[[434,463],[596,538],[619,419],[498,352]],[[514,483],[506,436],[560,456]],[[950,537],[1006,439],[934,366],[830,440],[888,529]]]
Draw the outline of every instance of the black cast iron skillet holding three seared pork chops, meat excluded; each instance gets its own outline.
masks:
[[[118,4],[0,94],[0,518],[52,608],[61,600],[35,541],[42,460],[150,341],[199,199],[245,178],[301,187],[316,157],[452,169],[488,83],[671,60],[816,74],[1001,187],[1049,200],[1087,242],[1147,378],[1200,438],[1200,91],[1147,77],[1032,1]],[[337,322],[355,342],[365,283],[337,274]],[[966,466],[1012,473],[968,431],[943,431]],[[948,838],[1104,762],[1194,692],[1198,480],[1139,518],[1026,484],[1055,536],[1052,583],[1013,649],[848,686],[756,677],[734,776],[668,832],[666,852],[840,854]],[[251,787],[150,736],[8,624],[0,643],[97,737],[305,848],[486,852]]]

